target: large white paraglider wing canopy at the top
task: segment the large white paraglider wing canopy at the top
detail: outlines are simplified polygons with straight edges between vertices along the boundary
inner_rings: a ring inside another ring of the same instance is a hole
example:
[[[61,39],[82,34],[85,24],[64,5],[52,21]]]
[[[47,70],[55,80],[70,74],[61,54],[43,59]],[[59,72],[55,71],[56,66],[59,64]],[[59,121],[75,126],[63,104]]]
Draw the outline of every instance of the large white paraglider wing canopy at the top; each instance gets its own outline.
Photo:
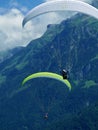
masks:
[[[76,11],[98,19],[98,9],[79,0],[52,0],[33,8],[23,19],[22,26],[31,19],[48,12]]]

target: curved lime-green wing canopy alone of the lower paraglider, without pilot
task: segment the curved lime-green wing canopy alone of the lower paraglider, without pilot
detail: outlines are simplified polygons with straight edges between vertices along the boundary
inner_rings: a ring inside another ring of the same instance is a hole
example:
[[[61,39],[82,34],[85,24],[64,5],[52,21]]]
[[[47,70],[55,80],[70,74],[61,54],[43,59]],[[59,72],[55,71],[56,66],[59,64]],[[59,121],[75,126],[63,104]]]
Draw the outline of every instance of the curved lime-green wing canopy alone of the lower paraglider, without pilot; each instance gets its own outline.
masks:
[[[71,88],[72,88],[70,82],[67,79],[63,79],[63,77],[61,75],[58,75],[56,73],[51,73],[51,72],[39,72],[39,73],[31,74],[23,80],[22,85],[24,85],[27,81],[29,81],[31,79],[41,78],[41,77],[56,79],[56,80],[64,83],[69,88],[69,90],[71,90]]]

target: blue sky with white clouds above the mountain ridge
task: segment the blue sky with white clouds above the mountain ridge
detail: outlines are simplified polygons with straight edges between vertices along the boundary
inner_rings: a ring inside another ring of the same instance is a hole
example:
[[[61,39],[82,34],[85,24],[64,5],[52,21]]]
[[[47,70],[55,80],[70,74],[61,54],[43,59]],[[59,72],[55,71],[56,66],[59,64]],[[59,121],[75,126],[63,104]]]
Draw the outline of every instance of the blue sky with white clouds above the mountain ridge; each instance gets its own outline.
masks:
[[[69,14],[49,13],[22,28],[25,15],[35,6],[50,0],[0,0],[0,51],[26,46],[41,37],[48,24],[60,23]],[[92,0],[81,0],[91,3]],[[54,20],[55,19],[55,20]]]

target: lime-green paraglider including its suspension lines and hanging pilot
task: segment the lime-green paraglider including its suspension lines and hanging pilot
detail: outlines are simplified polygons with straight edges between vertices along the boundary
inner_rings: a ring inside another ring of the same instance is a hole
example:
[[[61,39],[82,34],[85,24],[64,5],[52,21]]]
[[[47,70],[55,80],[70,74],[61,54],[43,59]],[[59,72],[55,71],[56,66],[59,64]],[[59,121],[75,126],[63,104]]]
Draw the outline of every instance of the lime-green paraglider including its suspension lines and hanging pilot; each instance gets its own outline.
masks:
[[[27,83],[29,80],[33,80],[35,78],[55,79],[55,80],[62,82],[65,86],[67,86],[69,91],[71,91],[71,89],[72,89],[72,86],[67,79],[63,79],[63,77],[61,75],[58,75],[58,74],[52,73],[52,72],[38,72],[38,73],[31,74],[23,80],[22,86],[24,86],[25,83]],[[42,110],[42,112],[44,112],[43,118],[45,120],[48,120],[49,111],[51,110],[51,106],[54,104],[54,102],[55,102],[55,94],[52,95],[51,100],[48,101],[47,107],[43,103],[41,103],[41,100],[39,98],[37,103],[40,104],[40,109]]]

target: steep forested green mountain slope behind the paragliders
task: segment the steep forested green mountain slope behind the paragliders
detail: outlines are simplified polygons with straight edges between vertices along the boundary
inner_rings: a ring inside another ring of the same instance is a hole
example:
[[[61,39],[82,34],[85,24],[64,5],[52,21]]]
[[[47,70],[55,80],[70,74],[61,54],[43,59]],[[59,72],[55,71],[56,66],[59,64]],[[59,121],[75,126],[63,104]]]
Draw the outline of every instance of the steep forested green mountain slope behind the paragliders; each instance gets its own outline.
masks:
[[[98,22],[76,15],[0,64],[1,130],[98,129]],[[69,71],[72,90],[32,73]],[[48,120],[44,119],[48,113]],[[71,124],[71,125],[70,125]]]

